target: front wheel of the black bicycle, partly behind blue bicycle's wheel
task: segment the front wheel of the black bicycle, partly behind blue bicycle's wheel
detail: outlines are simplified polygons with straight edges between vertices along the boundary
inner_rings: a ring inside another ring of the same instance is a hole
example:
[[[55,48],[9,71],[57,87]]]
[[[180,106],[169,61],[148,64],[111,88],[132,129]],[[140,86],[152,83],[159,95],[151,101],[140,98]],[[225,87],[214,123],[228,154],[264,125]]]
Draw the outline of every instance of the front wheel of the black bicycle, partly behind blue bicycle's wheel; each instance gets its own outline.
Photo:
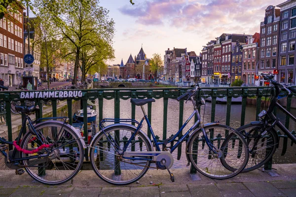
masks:
[[[247,140],[249,146],[249,162],[242,172],[249,172],[261,167],[274,154],[278,146],[278,135],[274,129],[264,135],[262,124],[248,124],[237,129]]]

